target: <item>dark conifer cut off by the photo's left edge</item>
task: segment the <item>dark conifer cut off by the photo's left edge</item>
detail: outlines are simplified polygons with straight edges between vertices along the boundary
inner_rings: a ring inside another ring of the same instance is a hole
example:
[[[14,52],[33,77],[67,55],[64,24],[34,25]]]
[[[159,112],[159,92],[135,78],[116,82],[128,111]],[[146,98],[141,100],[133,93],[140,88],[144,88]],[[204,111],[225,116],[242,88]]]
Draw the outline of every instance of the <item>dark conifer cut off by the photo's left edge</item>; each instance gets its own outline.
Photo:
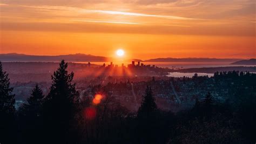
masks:
[[[10,142],[15,135],[14,114],[15,114],[15,95],[11,94],[14,88],[10,88],[10,79],[6,71],[3,71],[0,62],[0,140],[3,143]]]

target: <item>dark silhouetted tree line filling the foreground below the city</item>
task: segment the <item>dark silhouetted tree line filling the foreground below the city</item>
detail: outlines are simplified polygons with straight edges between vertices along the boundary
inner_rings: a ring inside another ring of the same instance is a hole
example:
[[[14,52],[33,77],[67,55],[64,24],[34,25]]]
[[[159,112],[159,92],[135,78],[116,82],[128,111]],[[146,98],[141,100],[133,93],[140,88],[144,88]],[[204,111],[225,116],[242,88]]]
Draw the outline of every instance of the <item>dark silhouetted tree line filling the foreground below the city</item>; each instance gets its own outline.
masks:
[[[158,109],[147,87],[136,113],[129,112],[104,87],[93,97],[80,97],[68,63],[53,73],[48,95],[35,85],[18,110],[8,74],[0,62],[1,143],[254,143],[255,93],[238,90],[234,99],[218,103],[209,92],[191,110]],[[237,77],[238,72],[215,76]],[[250,78],[250,74],[238,76]],[[252,77],[251,77],[252,78]]]

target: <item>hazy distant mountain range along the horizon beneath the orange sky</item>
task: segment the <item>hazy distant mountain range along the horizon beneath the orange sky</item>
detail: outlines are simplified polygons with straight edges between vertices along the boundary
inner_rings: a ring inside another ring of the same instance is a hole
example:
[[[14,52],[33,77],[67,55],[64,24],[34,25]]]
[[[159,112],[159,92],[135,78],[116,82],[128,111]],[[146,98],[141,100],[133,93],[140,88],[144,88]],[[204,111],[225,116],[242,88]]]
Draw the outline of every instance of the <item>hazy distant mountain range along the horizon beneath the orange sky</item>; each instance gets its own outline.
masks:
[[[110,62],[111,57],[95,56],[87,54],[69,54],[69,55],[26,55],[26,54],[0,54],[0,61],[7,62],[59,62],[60,60],[65,60],[68,62]],[[228,62],[233,63],[241,61],[242,59],[215,59],[215,58],[158,58],[150,60],[139,60],[139,59],[129,59],[126,61],[141,61],[141,62]],[[255,59],[252,59],[255,60]]]

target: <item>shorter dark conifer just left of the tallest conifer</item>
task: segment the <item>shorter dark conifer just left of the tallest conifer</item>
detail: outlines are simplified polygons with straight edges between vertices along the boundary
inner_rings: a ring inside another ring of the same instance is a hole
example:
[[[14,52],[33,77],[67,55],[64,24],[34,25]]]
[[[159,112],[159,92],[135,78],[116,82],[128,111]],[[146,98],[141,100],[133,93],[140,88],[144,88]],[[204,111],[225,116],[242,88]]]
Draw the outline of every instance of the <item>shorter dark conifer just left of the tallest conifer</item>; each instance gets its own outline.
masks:
[[[38,139],[41,139],[43,134],[43,98],[43,92],[36,84],[36,87],[32,90],[31,97],[20,108],[19,123],[21,123],[21,137],[25,143],[38,143]]]

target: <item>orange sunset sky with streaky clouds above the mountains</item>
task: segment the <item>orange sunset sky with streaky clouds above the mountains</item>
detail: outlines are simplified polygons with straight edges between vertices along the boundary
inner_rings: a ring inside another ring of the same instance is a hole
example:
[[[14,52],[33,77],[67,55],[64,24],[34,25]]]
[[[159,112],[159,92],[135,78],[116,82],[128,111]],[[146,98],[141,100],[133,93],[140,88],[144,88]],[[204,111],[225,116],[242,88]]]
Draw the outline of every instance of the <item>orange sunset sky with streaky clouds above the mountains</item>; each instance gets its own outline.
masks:
[[[1,0],[0,53],[256,57],[254,0]]]

